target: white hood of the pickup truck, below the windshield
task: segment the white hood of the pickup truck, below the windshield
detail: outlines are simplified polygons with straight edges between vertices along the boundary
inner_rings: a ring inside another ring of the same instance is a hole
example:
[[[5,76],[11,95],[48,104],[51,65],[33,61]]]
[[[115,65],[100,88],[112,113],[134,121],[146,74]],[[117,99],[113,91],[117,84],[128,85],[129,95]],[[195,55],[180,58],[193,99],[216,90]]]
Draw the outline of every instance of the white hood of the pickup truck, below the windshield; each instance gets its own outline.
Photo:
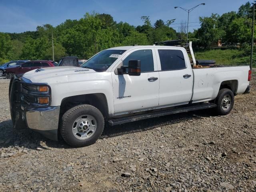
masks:
[[[23,77],[29,79],[33,83],[56,83],[68,82],[75,80],[79,74],[97,73],[88,68],[74,66],[59,66],[39,68],[26,72]]]

